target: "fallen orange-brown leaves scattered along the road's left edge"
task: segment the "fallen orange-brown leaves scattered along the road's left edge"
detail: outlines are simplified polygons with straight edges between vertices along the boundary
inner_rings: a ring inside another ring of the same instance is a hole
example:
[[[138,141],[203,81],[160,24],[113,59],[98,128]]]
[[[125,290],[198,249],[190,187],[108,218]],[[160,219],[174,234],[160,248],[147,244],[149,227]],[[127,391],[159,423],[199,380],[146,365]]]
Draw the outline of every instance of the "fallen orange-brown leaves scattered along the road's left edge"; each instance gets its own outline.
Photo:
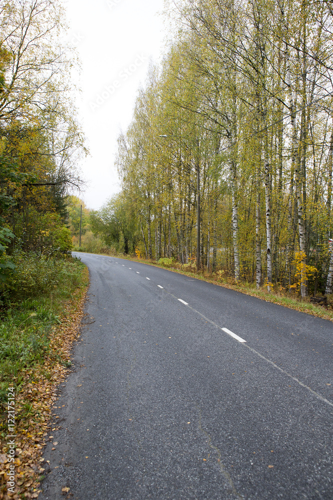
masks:
[[[18,414],[20,414],[23,404],[27,401],[30,404],[33,402],[36,412],[28,419],[17,420],[15,429],[17,435],[16,450],[19,453],[19,458],[15,457],[14,464],[17,470],[16,485],[18,489],[17,494],[15,493],[12,496],[13,500],[18,500],[19,498],[37,498],[41,492],[38,486],[40,484],[40,475],[44,470],[43,467],[40,467],[40,455],[46,443],[39,443],[39,441],[43,435],[47,442],[49,439],[48,426],[55,424],[55,422],[52,422],[53,419],[59,421],[59,416],[53,413],[57,408],[57,386],[62,382],[62,386],[66,386],[64,384],[66,380],[63,380],[63,378],[68,376],[66,374],[67,368],[62,365],[62,362],[68,360],[70,347],[76,339],[77,329],[83,315],[84,300],[85,288],[78,288],[74,292],[71,301],[65,305],[64,311],[61,314],[61,319],[66,317],[68,320],[62,321],[59,327],[51,327],[50,349],[61,357],[61,361],[58,362],[52,356],[49,358],[46,357],[42,367],[33,370],[26,368],[21,372],[23,383],[20,386],[19,393],[17,393],[15,407],[17,403]],[[47,375],[45,374],[46,372],[48,373]],[[13,380],[16,380],[16,383],[17,377],[13,377]],[[56,427],[52,428],[52,431],[55,429]],[[52,445],[52,441],[49,442]],[[53,447],[52,449],[55,450],[56,448]],[[0,458],[2,454],[6,457],[5,451],[6,449],[3,449],[3,447],[0,448]],[[50,460],[43,460],[43,463],[49,464]],[[5,463],[4,467],[6,466],[7,464]],[[6,476],[3,477],[1,475],[1,468],[4,467],[0,467],[0,498],[3,497],[5,486],[3,479],[6,479]],[[5,470],[3,470],[4,474]],[[68,490],[69,488],[62,492],[63,496],[68,495]],[[7,496],[3,498],[7,498]]]

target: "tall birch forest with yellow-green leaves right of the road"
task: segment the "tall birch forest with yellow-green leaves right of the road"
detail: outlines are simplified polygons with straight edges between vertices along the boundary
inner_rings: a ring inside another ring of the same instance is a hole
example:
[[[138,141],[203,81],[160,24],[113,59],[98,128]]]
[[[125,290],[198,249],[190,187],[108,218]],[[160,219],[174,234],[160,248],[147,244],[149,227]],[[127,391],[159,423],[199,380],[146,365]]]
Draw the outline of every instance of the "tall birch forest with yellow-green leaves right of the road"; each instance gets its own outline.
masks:
[[[148,259],[332,293],[332,2],[184,0],[169,15],[99,223]]]

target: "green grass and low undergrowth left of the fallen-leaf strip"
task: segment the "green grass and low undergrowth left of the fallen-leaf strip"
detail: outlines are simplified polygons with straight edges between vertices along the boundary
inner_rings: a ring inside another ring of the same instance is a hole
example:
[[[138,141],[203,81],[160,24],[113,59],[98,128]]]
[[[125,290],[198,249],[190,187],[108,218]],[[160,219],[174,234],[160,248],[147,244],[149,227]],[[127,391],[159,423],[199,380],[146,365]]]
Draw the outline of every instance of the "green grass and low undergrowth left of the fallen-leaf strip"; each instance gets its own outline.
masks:
[[[0,400],[6,388],[20,386],[24,373],[46,357],[57,354],[49,348],[52,331],[61,322],[64,304],[78,286],[86,285],[84,264],[79,259],[62,257],[36,259],[35,255],[20,256],[14,286],[10,280],[2,289],[0,311]],[[47,286],[36,288],[35,274],[43,271]],[[29,276],[27,277],[27,269]],[[24,286],[20,288],[23,277]]]

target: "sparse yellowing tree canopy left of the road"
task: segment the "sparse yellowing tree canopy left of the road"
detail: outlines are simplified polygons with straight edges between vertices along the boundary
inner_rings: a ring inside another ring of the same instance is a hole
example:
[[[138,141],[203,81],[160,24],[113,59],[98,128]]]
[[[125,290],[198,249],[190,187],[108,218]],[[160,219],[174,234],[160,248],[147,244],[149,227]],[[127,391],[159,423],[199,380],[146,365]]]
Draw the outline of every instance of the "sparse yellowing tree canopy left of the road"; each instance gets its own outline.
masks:
[[[66,219],[66,197],[82,184],[77,162],[87,151],[71,99],[75,54],[61,42],[65,30],[60,2],[1,2],[0,224],[7,234],[1,249],[4,260],[14,237],[23,249],[53,244],[50,220],[51,227],[56,224],[60,230]]]

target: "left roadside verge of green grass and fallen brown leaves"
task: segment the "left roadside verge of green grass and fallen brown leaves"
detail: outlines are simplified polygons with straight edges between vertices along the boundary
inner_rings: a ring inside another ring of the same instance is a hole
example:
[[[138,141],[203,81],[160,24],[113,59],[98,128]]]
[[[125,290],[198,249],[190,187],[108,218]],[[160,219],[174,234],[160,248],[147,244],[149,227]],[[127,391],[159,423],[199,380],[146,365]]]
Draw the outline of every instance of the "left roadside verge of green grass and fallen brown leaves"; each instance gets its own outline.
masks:
[[[87,267],[77,259],[66,259],[60,262],[56,282],[47,293],[16,299],[1,311],[0,500],[38,497],[51,405],[59,382],[70,369],[70,351],[79,336],[88,282]],[[8,387],[13,388],[15,413],[9,432]],[[8,462],[6,436],[11,430],[15,432],[14,462]],[[13,492],[7,490],[12,464]]]

